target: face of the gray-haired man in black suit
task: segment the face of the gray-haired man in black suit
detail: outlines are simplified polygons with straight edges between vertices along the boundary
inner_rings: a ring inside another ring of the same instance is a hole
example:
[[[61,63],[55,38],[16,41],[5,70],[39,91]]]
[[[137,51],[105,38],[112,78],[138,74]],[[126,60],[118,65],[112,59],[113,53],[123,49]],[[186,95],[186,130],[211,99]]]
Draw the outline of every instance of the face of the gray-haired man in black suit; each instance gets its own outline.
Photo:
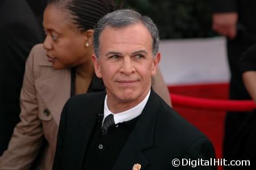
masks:
[[[93,56],[96,75],[103,79],[108,100],[140,103],[151,87],[160,53],[153,57],[152,37],[143,24],[106,27],[100,35],[99,59]]]

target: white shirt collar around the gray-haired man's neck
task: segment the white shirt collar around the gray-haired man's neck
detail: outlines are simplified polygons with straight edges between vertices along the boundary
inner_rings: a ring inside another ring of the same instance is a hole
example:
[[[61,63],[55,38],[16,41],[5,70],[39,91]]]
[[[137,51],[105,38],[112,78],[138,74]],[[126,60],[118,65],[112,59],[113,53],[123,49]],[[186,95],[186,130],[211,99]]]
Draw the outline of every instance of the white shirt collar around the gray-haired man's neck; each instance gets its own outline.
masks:
[[[141,103],[137,104],[135,107],[133,107],[133,108],[127,110],[127,111],[119,112],[119,113],[115,113],[115,114],[112,113],[110,111],[110,109],[108,109],[107,95],[106,95],[105,101],[104,101],[104,117],[103,117],[102,123],[104,122],[104,119],[109,114],[113,114],[114,115],[115,124],[119,124],[121,122],[126,122],[126,121],[132,120],[133,118],[139,116],[142,113],[146,103],[148,102],[150,91],[151,90],[149,90],[148,95],[146,95],[145,99],[142,100]]]

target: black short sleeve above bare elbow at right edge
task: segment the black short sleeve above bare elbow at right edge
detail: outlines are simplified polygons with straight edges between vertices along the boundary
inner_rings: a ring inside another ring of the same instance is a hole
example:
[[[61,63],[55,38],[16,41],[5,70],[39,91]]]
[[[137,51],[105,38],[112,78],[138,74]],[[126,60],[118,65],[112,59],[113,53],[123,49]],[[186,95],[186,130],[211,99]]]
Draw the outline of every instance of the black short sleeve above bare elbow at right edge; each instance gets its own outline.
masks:
[[[242,55],[239,63],[241,73],[256,71],[256,44],[250,46]]]

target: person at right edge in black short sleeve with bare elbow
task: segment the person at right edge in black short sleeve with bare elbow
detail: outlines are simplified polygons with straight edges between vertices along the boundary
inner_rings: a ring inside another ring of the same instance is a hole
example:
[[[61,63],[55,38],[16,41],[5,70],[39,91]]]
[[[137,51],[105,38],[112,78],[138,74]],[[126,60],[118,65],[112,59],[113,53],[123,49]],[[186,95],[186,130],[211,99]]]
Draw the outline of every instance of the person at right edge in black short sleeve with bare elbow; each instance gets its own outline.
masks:
[[[246,90],[256,103],[256,44],[242,55],[240,70]],[[236,145],[233,148],[232,159],[250,160],[250,167],[241,167],[241,169],[255,169],[256,109],[247,115],[234,140]]]

